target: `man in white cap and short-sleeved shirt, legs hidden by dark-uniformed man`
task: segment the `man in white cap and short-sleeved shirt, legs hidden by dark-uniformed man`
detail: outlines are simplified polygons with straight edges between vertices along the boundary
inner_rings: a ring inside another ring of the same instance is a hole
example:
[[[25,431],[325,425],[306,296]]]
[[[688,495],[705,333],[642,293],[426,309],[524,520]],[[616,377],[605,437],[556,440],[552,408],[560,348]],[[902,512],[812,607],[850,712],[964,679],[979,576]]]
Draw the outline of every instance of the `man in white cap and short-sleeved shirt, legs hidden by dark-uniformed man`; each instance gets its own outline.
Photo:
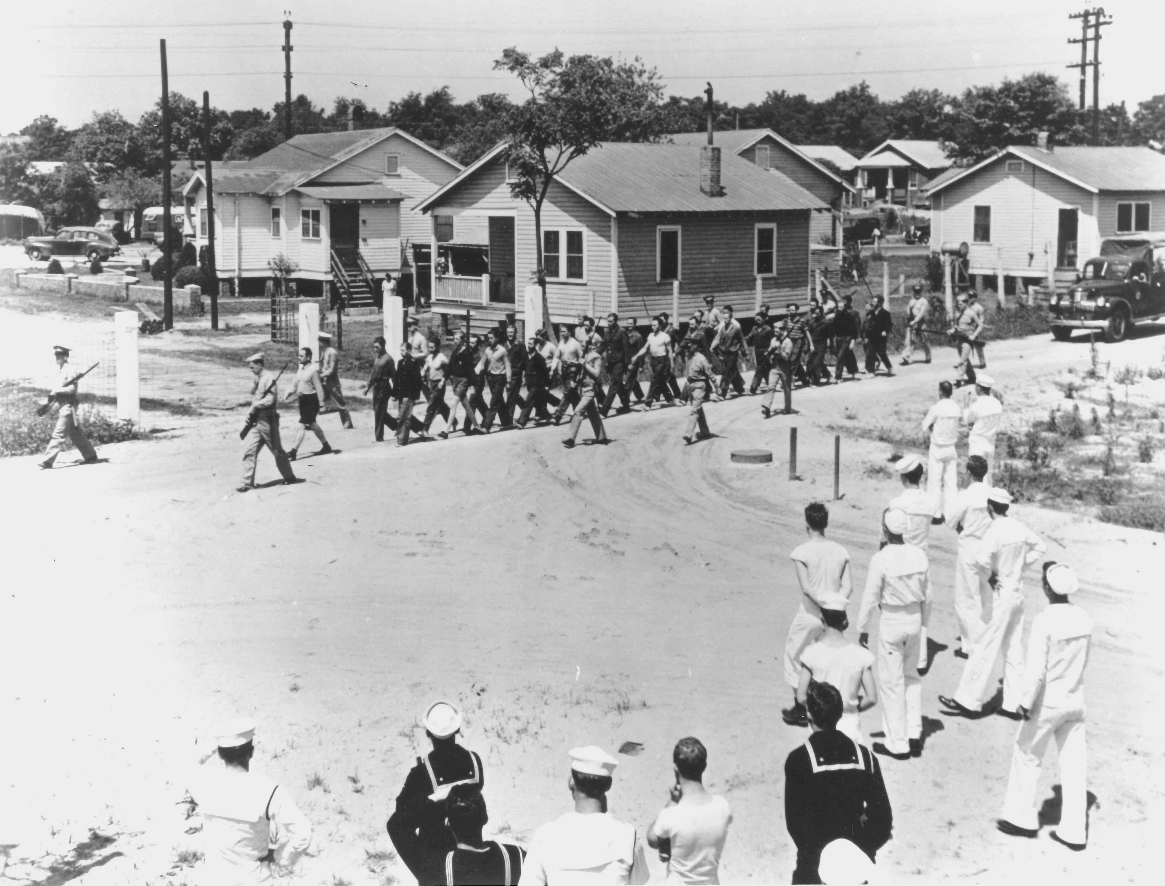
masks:
[[[805,703],[810,681],[828,683],[841,692],[841,719],[838,729],[854,741],[863,743],[859,715],[877,704],[874,682],[874,653],[846,639],[849,619],[840,593],[821,598],[821,639],[802,653],[802,681],[797,687],[797,702]]]

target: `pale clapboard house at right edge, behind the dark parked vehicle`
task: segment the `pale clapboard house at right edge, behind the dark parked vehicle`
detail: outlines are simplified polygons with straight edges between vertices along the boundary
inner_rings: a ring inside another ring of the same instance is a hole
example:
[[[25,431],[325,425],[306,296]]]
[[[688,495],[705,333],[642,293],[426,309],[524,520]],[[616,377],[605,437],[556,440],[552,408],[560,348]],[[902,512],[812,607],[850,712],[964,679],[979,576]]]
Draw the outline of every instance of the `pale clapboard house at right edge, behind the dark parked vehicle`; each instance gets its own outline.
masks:
[[[931,185],[932,249],[968,244],[968,273],[1075,280],[1100,241],[1165,228],[1165,156],[1146,147],[1009,147]]]

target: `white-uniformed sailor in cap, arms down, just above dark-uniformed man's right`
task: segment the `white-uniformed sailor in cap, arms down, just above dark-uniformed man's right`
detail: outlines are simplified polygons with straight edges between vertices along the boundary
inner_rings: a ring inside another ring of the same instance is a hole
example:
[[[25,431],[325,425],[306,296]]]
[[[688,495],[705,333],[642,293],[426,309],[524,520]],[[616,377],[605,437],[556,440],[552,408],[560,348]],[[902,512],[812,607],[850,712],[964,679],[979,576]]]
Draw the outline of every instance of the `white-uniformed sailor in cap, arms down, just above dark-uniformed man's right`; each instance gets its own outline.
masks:
[[[905,540],[909,518],[897,508],[885,515],[888,543],[870,558],[857,616],[859,642],[869,646],[874,610],[881,609],[877,682],[885,744],[874,752],[908,760],[923,753],[923,680],[918,644],[931,618],[930,563],[922,548]]]

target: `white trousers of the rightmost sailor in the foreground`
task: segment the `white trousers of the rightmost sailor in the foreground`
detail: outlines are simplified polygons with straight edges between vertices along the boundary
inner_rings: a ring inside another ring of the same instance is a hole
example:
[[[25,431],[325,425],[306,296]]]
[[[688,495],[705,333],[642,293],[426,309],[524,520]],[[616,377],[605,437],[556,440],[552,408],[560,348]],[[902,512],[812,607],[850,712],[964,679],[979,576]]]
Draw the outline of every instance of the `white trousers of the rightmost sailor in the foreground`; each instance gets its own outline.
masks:
[[[1011,775],[1003,801],[1003,817],[1019,828],[1038,830],[1036,789],[1048,741],[1060,750],[1060,824],[1057,835],[1067,843],[1088,842],[1088,750],[1081,710],[1045,710],[1037,704],[1031,719],[1019,726],[1011,752]]]

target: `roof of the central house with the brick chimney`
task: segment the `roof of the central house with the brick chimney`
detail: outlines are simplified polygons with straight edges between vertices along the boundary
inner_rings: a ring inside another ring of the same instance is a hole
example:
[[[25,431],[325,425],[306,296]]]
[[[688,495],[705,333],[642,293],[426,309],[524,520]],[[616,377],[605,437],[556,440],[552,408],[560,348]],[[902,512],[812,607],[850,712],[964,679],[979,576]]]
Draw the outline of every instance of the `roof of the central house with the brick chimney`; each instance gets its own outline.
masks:
[[[496,157],[506,145],[422,201],[424,211]],[[776,170],[764,170],[733,153],[721,154],[722,197],[700,192],[700,152],[689,145],[603,142],[557,176],[564,187],[608,215],[627,212],[764,212],[827,210],[828,206]]]

